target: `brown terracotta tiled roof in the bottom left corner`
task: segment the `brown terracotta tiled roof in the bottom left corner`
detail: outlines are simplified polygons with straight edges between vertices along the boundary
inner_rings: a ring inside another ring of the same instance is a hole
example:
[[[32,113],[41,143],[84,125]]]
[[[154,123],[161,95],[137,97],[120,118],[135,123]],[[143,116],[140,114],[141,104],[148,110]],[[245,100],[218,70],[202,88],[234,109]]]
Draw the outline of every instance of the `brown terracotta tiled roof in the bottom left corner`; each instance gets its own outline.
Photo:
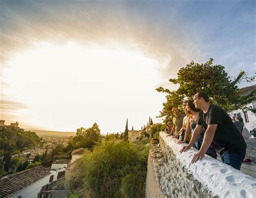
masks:
[[[10,197],[49,174],[51,174],[50,168],[38,166],[7,175],[0,180],[0,197]]]

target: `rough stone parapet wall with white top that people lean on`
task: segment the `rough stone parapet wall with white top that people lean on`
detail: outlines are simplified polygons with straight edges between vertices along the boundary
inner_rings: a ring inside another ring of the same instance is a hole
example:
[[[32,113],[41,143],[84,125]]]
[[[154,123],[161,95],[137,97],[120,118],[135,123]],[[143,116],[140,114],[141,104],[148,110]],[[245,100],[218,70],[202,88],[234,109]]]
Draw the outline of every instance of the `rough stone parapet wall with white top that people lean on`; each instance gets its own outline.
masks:
[[[159,197],[255,197],[256,179],[207,155],[191,164],[197,149],[191,148],[180,154],[185,144],[178,145],[177,139],[166,135],[160,132],[159,147],[151,147],[149,163],[157,163],[157,170],[147,173],[159,178],[153,181],[159,183],[163,193]],[[156,156],[157,150],[159,158],[152,158],[152,153]],[[148,193],[150,185],[147,180],[146,197],[155,197]]]

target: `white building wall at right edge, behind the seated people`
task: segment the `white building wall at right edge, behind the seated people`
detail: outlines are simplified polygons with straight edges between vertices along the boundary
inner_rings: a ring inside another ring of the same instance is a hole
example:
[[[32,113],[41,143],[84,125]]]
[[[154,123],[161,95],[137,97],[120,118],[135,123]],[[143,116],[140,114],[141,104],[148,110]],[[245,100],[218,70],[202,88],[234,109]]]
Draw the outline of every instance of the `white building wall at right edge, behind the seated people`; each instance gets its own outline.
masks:
[[[250,107],[250,106],[252,106],[253,108],[256,108],[256,101],[253,101],[252,103],[246,105],[246,107]],[[233,115],[234,113],[240,113],[242,115],[242,119],[244,120],[245,127],[249,131],[252,131],[253,128],[256,128],[256,114],[253,114],[253,112],[251,111],[247,111],[249,122],[245,122],[245,115],[242,112],[242,110],[239,109],[239,110],[230,112],[231,115]]]

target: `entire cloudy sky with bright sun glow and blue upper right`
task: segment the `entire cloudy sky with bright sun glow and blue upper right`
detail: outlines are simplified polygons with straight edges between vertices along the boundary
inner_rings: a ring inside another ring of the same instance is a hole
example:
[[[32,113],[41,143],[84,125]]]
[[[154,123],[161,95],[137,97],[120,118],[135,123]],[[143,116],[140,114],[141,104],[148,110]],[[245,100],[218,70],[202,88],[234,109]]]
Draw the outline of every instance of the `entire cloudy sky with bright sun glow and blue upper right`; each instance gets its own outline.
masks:
[[[0,0],[0,119],[101,132],[156,118],[190,63],[256,68],[255,1]],[[239,87],[252,84],[242,83]]]

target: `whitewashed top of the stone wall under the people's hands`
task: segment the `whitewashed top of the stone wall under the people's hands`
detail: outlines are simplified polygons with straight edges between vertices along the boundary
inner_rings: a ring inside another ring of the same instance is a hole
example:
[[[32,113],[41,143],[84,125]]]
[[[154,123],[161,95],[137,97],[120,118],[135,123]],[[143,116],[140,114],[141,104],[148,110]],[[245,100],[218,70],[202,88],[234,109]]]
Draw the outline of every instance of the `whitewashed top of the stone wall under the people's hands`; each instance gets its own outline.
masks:
[[[172,149],[181,167],[185,166],[194,175],[194,179],[207,186],[213,194],[220,197],[255,197],[256,179],[208,155],[196,163],[191,163],[193,154],[198,150],[190,148],[180,153],[180,149],[187,144],[177,144],[176,138],[166,135],[167,133],[160,132],[159,138]]]

